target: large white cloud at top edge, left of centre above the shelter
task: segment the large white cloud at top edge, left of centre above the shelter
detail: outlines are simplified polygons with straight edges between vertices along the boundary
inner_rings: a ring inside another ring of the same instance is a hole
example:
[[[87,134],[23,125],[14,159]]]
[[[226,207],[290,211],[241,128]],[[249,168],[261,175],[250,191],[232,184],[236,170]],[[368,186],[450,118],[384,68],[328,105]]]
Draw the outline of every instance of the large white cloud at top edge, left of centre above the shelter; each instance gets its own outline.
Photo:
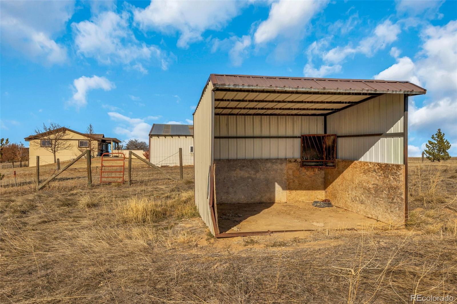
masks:
[[[239,14],[240,1],[160,1],[151,0],[145,8],[133,12],[134,21],[143,30],[165,34],[180,33],[178,47],[202,40],[206,30],[220,30]]]

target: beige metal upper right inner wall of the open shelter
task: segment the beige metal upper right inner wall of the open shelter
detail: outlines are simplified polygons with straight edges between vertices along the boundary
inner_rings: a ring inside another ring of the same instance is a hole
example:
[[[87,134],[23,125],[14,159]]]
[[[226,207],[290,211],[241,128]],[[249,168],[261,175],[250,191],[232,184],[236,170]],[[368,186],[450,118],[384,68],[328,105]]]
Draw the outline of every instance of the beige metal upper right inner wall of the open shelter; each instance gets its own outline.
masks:
[[[337,137],[339,159],[403,164],[403,94],[384,94],[360,105],[327,116],[327,133],[384,136]]]

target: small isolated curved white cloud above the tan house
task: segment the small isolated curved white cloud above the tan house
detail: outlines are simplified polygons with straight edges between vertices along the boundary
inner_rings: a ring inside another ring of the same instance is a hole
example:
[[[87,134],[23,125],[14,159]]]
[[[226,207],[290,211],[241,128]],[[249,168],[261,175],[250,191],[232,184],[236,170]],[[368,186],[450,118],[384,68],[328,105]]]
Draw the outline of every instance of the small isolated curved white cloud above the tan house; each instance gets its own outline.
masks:
[[[109,91],[116,88],[116,85],[106,79],[105,77],[86,77],[82,76],[73,81],[74,94],[72,100],[69,101],[69,105],[74,105],[76,107],[81,107],[87,105],[87,92],[93,89],[104,89]]]

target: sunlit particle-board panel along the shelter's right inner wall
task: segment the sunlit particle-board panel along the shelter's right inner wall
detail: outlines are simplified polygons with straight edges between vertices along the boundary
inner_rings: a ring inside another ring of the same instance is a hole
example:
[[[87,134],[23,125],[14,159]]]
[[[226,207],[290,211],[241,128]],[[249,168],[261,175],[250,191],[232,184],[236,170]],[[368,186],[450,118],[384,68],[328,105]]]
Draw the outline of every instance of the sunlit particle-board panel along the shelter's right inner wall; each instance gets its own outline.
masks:
[[[404,165],[337,160],[325,169],[332,204],[380,220],[404,222]]]

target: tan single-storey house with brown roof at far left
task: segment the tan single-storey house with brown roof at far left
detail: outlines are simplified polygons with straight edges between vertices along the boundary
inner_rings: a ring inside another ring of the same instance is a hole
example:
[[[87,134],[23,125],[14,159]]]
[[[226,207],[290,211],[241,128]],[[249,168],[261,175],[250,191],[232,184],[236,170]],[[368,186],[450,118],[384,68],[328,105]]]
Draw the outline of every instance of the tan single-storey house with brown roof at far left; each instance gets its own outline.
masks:
[[[92,156],[101,156],[102,153],[117,149],[121,142],[114,137],[105,137],[104,134],[81,133],[62,127],[53,131],[30,135],[24,138],[29,144],[29,166],[36,166],[37,156],[40,165],[54,163],[55,158],[60,161],[71,160],[92,146]],[[56,142],[57,146],[56,147]]]

